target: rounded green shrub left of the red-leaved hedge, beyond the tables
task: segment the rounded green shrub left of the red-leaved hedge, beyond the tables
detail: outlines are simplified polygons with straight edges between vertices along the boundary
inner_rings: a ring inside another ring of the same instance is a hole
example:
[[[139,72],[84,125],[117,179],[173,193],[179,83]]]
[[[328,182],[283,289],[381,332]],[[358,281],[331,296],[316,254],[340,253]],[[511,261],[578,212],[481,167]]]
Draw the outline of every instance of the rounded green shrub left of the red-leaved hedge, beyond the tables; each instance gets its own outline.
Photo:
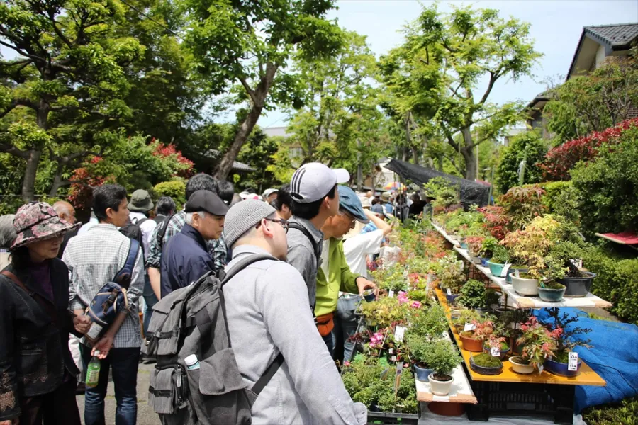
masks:
[[[503,149],[500,163],[496,169],[496,186],[501,193],[513,186],[520,186],[519,166],[525,160],[525,179],[523,183],[539,183],[542,169],[536,166],[542,162],[547,147],[538,131],[527,131],[516,135],[508,147]]]

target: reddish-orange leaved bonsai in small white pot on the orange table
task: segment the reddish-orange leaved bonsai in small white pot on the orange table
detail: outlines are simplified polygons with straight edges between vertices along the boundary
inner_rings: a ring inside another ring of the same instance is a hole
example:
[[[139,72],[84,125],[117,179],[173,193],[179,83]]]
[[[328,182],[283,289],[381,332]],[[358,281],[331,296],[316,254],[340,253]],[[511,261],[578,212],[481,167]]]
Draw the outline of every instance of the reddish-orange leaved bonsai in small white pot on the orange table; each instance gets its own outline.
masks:
[[[521,354],[510,357],[510,363],[515,373],[529,375],[535,368],[540,370],[545,360],[554,356],[556,344],[552,334],[539,324],[535,316],[521,324],[521,330],[523,334],[516,341],[517,345],[522,347]]]

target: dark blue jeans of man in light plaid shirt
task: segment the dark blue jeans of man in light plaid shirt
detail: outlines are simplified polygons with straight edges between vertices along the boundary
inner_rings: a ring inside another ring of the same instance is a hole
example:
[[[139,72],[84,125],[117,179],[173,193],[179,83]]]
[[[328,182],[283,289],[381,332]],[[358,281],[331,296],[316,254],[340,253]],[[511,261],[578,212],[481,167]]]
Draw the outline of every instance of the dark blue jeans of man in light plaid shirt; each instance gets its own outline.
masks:
[[[82,363],[86,370],[91,361],[91,348],[82,346]],[[138,416],[138,361],[140,348],[111,348],[108,357],[100,363],[100,378],[98,385],[86,387],[84,393],[84,424],[105,425],[104,397],[108,386],[108,369],[113,370],[113,385],[115,386],[116,425],[135,425]],[[109,421],[109,423],[113,423]]]

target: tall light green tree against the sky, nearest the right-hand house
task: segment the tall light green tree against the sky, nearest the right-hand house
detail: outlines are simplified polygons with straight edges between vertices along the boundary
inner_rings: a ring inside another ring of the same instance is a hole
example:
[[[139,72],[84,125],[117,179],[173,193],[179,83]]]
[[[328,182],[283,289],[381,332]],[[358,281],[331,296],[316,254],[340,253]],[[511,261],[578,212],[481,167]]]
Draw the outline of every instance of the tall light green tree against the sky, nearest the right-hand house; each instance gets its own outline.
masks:
[[[418,59],[432,67],[431,73],[436,67],[439,74],[424,84],[422,96],[436,93],[432,120],[449,145],[464,157],[465,178],[475,179],[476,146],[495,139],[520,119],[522,103],[496,105],[489,98],[501,79],[517,81],[532,75],[532,67],[542,55],[534,50],[530,24],[500,18],[493,9],[471,6],[454,7],[444,14],[435,4],[425,8],[408,28],[404,47],[418,51]],[[412,74],[414,84],[420,74]],[[488,84],[477,94],[482,79]],[[457,133],[462,137],[460,142],[455,140]]]

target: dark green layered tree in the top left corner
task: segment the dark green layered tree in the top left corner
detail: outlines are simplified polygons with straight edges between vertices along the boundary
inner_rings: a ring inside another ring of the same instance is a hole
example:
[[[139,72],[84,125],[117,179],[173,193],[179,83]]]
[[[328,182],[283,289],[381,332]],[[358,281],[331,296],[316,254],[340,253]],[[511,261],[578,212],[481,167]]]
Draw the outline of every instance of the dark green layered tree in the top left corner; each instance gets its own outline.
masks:
[[[0,4],[0,45],[17,55],[0,62],[0,152],[26,162],[23,200],[33,200],[43,155],[64,169],[101,153],[103,147],[69,123],[108,126],[130,115],[123,101],[130,89],[125,68],[145,49],[135,38],[116,34],[123,18],[118,1]]]

